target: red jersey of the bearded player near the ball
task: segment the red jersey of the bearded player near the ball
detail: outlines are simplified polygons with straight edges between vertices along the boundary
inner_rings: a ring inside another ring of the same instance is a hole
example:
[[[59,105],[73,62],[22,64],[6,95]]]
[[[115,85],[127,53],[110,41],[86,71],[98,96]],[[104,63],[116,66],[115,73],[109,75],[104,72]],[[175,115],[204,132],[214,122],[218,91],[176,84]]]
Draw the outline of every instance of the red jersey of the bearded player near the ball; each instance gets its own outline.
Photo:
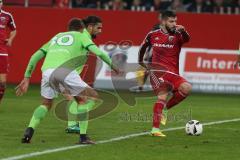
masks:
[[[140,57],[147,47],[152,47],[152,63],[179,74],[179,55],[181,47],[190,39],[186,31],[164,33],[162,29],[147,34],[140,48]]]

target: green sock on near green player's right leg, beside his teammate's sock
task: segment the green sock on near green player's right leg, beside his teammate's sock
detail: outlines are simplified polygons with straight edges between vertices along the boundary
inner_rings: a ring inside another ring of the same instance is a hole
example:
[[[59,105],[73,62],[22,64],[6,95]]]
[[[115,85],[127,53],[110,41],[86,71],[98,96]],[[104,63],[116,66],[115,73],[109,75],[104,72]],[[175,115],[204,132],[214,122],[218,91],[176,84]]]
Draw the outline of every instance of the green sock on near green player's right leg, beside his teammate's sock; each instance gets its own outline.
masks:
[[[78,105],[78,113],[81,113],[79,126],[80,126],[80,134],[86,134],[87,128],[88,128],[88,111],[90,111],[93,106],[95,105],[95,102],[93,100],[88,100],[85,104],[79,104]]]

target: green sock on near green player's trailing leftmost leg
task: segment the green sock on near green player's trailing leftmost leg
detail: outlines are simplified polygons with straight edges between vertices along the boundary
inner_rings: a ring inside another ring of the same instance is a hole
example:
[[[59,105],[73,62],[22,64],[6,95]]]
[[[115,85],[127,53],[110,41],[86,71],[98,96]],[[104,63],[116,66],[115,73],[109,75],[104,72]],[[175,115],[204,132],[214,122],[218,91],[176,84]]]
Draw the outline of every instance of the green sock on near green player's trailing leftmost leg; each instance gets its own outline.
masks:
[[[33,116],[30,120],[28,127],[35,129],[41,122],[41,120],[46,116],[48,109],[44,105],[40,105],[33,112]]]

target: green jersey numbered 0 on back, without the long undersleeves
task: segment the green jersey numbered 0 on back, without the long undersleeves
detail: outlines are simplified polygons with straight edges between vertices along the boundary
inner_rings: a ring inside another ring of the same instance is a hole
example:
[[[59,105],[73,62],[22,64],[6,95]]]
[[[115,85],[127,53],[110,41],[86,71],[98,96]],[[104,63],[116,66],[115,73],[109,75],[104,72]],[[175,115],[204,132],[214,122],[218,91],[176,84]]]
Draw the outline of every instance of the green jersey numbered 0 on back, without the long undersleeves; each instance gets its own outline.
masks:
[[[75,68],[81,72],[83,65],[87,61],[88,47],[95,45],[87,31],[81,32],[63,32],[54,36],[48,43],[41,47],[46,54],[42,71],[55,69],[58,67],[71,66],[73,61],[80,59]],[[77,66],[78,65],[78,66]]]

